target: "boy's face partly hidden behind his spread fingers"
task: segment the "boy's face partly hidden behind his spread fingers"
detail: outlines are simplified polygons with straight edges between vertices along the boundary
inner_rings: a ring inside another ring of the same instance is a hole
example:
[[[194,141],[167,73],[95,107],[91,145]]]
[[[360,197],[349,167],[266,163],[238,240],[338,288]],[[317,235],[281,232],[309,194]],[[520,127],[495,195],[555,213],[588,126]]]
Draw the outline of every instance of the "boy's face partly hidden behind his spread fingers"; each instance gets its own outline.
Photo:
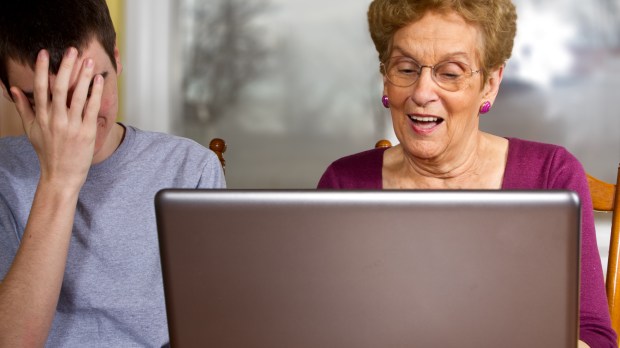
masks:
[[[79,70],[82,66],[82,62],[86,58],[93,59],[95,63],[95,74],[101,74],[104,78],[103,94],[101,96],[101,107],[97,117],[97,139],[95,141],[95,158],[99,151],[106,145],[109,147],[111,142],[114,141],[111,136],[112,129],[116,124],[116,116],[118,114],[118,76],[122,71],[122,65],[120,62],[118,49],[114,50],[114,56],[116,59],[117,69],[114,69],[114,65],[110,61],[108,54],[105,52],[99,41],[93,38],[86,48],[82,50],[82,54],[78,57],[73,73],[71,74],[71,82],[67,93],[67,104],[71,102],[73,95],[73,89],[75,88]],[[34,71],[28,65],[17,63],[13,60],[9,60],[7,64],[8,80],[11,86],[20,88],[24,94],[30,100],[30,104],[34,108]],[[49,86],[54,85],[56,79],[55,75],[50,74]],[[90,93],[90,92],[89,92]],[[5,90],[5,96],[6,90]],[[116,144],[118,145],[118,144]],[[95,160],[95,163],[97,161]]]

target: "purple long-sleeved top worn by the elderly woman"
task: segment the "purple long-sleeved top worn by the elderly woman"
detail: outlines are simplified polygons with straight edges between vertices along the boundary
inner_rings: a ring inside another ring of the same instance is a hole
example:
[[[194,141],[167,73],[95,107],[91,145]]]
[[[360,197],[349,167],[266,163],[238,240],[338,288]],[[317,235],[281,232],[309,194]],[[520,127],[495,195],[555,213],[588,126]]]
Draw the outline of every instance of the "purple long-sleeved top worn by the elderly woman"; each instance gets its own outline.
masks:
[[[579,339],[592,348],[617,347],[596,245],[592,200],[581,163],[560,146],[516,138],[508,141],[502,189],[569,189],[579,195],[583,208]],[[384,151],[385,148],[373,149],[333,162],[318,188],[382,189]]]

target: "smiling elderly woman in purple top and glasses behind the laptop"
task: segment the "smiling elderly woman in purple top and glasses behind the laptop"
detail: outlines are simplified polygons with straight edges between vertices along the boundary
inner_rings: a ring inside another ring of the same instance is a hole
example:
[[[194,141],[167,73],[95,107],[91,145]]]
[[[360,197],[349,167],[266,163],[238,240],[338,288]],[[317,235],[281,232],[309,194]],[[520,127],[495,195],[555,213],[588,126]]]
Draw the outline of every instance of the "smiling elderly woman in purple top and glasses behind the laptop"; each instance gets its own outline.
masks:
[[[370,34],[400,144],[332,163],[336,189],[570,189],[582,202],[580,342],[616,346],[584,170],[564,148],[479,130],[510,57],[510,0],[375,0]],[[536,315],[532,313],[532,315]]]

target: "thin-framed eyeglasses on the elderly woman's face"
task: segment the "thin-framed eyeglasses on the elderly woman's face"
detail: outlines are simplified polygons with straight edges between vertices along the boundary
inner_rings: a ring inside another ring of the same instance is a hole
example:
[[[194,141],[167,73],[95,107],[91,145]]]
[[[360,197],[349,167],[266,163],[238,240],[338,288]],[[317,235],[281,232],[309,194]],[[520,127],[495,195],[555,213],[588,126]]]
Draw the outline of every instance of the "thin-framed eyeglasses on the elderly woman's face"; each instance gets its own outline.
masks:
[[[420,79],[422,69],[431,69],[431,77],[446,91],[456,92],[466,86],[467,80],[480,70],[472,70],[463,62],[446,61],[435,65],[421,65],[408,57],[392,57],[381,63],[381,71],[394,86],[409,87]]]

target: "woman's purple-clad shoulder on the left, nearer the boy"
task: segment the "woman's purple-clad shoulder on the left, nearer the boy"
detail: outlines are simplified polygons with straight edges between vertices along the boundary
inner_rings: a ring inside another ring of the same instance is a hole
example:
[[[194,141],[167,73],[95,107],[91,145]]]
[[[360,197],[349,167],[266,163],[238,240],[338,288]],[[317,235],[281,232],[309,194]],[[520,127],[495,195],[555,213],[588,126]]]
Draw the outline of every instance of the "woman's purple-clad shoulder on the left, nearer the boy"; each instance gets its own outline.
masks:
[[[372,149],[342,157],[329,165],[319,188],[381,188],[381,170],[385,148]]]

